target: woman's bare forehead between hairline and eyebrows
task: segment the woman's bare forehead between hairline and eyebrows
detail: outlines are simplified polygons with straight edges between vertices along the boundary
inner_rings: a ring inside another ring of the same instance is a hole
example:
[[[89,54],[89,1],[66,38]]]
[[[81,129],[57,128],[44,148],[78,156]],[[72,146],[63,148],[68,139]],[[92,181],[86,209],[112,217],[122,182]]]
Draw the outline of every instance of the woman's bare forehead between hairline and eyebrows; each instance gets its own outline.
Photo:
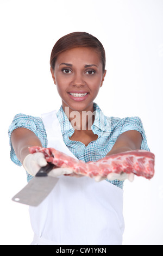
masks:
[[[101,58],[99,52],[90,47],[76,47],[66,50],[59,54],[57,58],[58,64],[60,62],[83,62],[84,64],[100,64]]]

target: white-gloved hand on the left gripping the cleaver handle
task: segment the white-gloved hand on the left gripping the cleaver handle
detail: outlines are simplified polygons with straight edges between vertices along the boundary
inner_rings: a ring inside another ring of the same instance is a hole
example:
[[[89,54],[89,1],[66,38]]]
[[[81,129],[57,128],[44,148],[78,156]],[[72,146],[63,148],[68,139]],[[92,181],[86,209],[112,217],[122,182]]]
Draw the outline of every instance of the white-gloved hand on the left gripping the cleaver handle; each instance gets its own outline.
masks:
[[[39,172],[39,169],[46,165],[47,161],[45,160],[43,153],[29,154],[23,161],[23,167],[32,176],[35,176],[36,173]]]

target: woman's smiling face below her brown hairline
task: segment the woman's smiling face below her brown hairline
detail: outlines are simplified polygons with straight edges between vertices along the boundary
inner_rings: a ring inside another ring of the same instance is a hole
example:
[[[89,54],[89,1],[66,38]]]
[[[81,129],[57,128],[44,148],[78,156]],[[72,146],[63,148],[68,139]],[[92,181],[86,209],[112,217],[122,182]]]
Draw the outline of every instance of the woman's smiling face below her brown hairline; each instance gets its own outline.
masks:
[[[106,74],[93,48],[77,47],[60,53],[51,72],[64,109],[93,111],[93,101]]]

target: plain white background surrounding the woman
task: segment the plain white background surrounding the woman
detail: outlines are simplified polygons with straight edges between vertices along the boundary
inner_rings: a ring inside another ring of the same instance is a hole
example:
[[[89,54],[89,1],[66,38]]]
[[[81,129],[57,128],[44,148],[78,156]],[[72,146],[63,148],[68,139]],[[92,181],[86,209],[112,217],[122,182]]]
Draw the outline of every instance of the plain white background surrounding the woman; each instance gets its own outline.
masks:
[[[39,116],[60,107],[49,57],[55,42],[75,31],[95,35],[106,51],[96,102],[106,115],[139,116],[155,154],[151,181],[124,183],[123,245],[163,245],[163,1],[1,0],[0,26],[1,245],[33,239],[28,206],[11,201],[27,180],[10,160],[8,126],[16,113]]]

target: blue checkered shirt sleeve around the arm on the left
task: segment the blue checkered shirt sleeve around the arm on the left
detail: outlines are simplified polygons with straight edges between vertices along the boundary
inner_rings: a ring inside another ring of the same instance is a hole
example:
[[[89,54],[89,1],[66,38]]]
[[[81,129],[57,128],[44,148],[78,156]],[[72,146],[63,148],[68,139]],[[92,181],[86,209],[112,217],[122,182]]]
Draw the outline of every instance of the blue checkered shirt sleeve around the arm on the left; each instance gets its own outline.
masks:
[[[47,147],[47,136],[45,127],[42,123],[42,119],[39,117],[32,117],[32,115],[17,114],[15,115],[11,125],[9,126],[8,135],[10,143],[10,158],[12,162],[17,164],[17,166],[22,166],[21,162],[17,159],[15,151],[11,143],[11,133],[17,128],[26,128],[33,131],[35,135],[40,139],[42,147]]]

